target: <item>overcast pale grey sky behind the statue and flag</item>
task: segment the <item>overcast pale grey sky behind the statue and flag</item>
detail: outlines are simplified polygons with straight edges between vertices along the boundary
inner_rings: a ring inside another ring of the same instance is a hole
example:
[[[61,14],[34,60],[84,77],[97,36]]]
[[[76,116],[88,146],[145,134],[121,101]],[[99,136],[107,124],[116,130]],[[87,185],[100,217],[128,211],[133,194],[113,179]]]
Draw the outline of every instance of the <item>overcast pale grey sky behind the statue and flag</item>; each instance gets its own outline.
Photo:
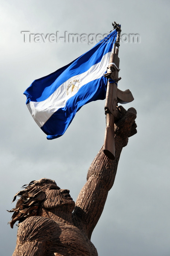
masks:
[[[105,101],[89,103],[65,134],[49,141],[25,105],[24,90],[90,50],[88,42],[24,42],[32,34],[106,34],[112,22],[140,42],[120,46],[121,90],[135,100],[137,134],[123,148],[113,188],[92,234],[99,256],[170,255],[170,1],[1,0],[1,253],[12,255],[9,210],[22,185],[46,177],[76,200],[103,144]]]

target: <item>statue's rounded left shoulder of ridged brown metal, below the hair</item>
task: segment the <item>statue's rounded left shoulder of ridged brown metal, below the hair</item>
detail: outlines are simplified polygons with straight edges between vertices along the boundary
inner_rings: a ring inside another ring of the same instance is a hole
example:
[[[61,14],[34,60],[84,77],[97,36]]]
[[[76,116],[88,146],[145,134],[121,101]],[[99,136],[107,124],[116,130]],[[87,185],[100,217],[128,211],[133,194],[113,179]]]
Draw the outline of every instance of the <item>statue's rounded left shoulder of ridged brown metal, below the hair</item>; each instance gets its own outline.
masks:
[[[50,240],[50,233],[57,229],[57,223],[52,219],[32,216],[19,224],[17,240],[19,243]]]

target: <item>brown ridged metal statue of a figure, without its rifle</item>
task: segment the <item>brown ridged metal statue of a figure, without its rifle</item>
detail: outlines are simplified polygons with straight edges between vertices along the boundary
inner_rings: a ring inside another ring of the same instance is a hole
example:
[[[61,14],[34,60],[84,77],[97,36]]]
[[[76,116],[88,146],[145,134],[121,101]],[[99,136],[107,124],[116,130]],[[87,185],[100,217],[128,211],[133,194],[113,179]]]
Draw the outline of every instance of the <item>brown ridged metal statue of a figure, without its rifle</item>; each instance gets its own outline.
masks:
[[[102,214],[108,191],[114,184],[122,148],[136,133],[136,110],[120,107],[121,118],[115,128],[115,160],[103,153],[92,162],[87,182],[76,203],[68,189],[60,189],[54,180],[43,178],[24,185],[13,212],[11,227],[19,221],[13,256],[97,256],[90,238]]]

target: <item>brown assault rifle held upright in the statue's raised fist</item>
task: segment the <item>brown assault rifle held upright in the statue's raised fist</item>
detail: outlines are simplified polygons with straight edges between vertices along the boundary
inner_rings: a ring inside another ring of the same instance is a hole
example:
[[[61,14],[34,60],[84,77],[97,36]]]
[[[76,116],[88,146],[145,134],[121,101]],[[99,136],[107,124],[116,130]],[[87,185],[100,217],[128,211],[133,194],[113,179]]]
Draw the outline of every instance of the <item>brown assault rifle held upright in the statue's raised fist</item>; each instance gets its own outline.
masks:
[[[118,102],[125,104],[133,101],[133,95],[131,91],[121,91],[117,88],[117,82],[121,79],[118,77],[119,62],[118,51],[120,46],[120,33],[121,26],[114,22],[112,23],[114,29],[117,30],[117,38],[110,55],[110,63],[107,68],[107,73],[104,75],[107,79],[107,91],[105,102],[105,114],[106,114],[106,130],[103,152],[107,157],[114,160],[115,147],[114,147],[114,121],[120,118],[120,112],[118,110]]]

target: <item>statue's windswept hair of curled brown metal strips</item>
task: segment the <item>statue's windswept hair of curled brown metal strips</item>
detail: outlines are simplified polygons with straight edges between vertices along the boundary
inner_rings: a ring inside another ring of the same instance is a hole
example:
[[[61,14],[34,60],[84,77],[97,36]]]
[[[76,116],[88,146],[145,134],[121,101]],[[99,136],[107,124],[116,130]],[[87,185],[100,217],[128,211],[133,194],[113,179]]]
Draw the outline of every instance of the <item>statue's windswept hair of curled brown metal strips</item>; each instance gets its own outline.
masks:
[[[41,208],[41,203],[46,198],[41,187],[49,183],[56,185],[54,180],[42,178],[41,180],[34,180],[29,184],[23,185],[22,188],[25,189],[16,193],[12,202],[16,200],[17,196],[20,198],[18,199],[15,208],[9,211],[14,212],[11,221],[9,222],[11,228],[13,228],[16,221],[19,221],[20,223],[28,217],[38,215],[38,210]]]

